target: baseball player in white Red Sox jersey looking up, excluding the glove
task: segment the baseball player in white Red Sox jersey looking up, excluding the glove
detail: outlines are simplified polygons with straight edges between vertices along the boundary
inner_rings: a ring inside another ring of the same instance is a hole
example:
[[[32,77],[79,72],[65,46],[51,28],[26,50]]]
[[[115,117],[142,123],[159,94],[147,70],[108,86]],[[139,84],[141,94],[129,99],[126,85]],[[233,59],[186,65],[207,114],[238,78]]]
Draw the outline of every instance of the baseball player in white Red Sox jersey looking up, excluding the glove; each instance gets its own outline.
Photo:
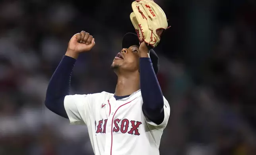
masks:
[[[163,31],[156,32],[161,36]],[[114,94],[69,94],[76,59],[95,45],[85,31],[70,39],[50,79],[45,105],[71,124],[87,125],[95,155],[159,155],[170,107],[156,77],[158,57],[150,43],[139,40],[137,34],[124,35],[111,64],[118,77]]]

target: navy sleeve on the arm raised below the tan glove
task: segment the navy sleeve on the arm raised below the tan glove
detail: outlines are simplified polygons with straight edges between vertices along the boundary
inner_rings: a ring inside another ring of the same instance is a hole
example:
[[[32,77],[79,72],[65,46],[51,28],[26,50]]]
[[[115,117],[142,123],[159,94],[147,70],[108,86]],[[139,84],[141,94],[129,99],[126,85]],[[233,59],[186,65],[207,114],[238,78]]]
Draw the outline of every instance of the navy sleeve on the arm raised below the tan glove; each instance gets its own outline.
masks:
[[[140,58],[140,89],[144,114],[159,124],[163,120],[163,93],[153,70],[150,58]]]

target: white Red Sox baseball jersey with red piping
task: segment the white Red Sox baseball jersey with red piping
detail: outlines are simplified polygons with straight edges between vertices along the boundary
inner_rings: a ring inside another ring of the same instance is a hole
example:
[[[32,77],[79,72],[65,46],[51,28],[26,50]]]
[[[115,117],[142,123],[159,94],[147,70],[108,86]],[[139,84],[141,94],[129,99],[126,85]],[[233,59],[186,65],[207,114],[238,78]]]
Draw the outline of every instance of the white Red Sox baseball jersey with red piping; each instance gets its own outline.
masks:
[[[170,106],[164,98],[165,118],[157,125],[144,116],[142,103],[140,90],[120,100],[104,91],[64,99],[70,123],[87,125],[95,155],[159,155]]]

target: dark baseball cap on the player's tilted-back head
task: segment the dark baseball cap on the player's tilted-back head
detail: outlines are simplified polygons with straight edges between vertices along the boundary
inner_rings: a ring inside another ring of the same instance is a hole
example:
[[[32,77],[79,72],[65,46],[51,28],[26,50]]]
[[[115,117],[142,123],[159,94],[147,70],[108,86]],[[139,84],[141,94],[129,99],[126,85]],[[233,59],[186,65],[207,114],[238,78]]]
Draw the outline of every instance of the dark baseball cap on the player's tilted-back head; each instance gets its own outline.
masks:
[[[137,34],[128,32],[123,37],[122,48],[129,48],[132,45],[137,45],[140,47],[139,38],[138,38]],[[158,60],[159,58],[153,49],[149,50],[149,57],[152,61],[155,75],[157,75],[157,73],[159,71],[159,60]]]

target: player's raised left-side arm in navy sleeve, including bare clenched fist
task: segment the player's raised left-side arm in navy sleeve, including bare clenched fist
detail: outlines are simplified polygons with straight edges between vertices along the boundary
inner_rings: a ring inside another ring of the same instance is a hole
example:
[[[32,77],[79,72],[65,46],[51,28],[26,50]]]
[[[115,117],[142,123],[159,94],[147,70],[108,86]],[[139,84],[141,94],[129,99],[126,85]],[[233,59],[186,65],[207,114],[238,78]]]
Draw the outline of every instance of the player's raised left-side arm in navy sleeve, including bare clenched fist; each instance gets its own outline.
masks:
[[[78,55],[90,51],[95,45],[93,36],[85,31],[75,34],[68,43],[66,54],[52,75],[47,87],[45,106],[52,112],[68,118],[64,99],[69,95],[72,70]]]

